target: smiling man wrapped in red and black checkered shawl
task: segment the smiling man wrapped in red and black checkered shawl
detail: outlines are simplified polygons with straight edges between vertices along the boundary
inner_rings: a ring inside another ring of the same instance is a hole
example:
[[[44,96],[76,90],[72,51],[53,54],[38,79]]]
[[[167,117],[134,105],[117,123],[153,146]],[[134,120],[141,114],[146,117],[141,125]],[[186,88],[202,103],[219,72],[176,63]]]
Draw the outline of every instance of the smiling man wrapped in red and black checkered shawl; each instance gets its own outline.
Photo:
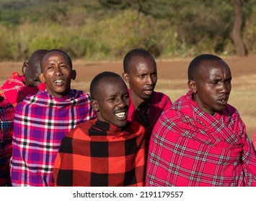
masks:
[[[53,168],[55,186],[143,186],[144,127],[127,121],[130,98],[111,72],[90,85],[94,120],[80,123],[62,141]]]

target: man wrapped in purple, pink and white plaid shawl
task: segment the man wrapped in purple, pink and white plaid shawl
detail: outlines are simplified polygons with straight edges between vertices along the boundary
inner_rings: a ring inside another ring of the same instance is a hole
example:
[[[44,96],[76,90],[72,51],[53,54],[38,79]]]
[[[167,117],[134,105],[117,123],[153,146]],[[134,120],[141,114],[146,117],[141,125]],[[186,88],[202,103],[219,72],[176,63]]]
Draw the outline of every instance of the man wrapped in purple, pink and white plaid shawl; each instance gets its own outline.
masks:
[[[14,186],[50,186],[61,139],[77,124],[95,117],[89,95],[71,89],[76,71],[66,52],[50,50],[40,65],[46,91],[25,98],[14,115]]]

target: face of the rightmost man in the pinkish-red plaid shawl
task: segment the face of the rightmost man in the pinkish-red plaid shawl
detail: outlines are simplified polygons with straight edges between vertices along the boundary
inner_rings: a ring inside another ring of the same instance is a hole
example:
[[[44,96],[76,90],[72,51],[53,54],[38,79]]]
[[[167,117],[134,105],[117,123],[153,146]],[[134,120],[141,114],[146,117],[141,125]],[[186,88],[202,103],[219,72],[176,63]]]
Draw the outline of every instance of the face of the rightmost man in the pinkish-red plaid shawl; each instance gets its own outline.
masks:
[[[189,84],[189,86],[191,86]],[[190,87],[191,88],[191,87]],[[194,101],[206,113],[224,111],[231,91],[231,71],[223,60],[201,62],[195,78]]]

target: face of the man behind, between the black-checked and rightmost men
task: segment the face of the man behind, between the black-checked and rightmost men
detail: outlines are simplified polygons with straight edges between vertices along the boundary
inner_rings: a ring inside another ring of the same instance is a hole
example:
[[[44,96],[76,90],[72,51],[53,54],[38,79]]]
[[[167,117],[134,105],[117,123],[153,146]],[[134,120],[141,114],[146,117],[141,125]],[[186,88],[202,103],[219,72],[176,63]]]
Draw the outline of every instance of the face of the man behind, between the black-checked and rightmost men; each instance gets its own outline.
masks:
[[[156,65],[151,57],[135,56],[123,78],[130,85],[133,99],[144,102],[151,98],[157,81]]]

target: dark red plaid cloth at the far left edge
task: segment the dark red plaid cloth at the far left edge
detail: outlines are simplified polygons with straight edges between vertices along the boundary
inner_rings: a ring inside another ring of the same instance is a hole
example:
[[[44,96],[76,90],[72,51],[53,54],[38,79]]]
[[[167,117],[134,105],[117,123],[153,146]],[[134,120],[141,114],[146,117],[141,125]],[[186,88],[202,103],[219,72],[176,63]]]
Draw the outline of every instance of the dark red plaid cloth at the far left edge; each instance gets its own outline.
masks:
[[[12,156],[14,108],[0,96],[0,186],[10,185],[9,162]]]

